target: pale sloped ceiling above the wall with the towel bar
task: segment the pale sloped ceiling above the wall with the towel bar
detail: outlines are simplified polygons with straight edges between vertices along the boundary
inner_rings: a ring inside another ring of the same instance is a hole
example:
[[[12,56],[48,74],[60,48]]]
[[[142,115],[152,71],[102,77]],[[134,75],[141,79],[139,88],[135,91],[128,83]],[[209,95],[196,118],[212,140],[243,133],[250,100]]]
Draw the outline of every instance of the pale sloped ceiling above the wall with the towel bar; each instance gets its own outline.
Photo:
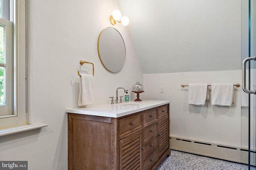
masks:
[[[145,74],[240,69],[240,0],[119,3]]]

